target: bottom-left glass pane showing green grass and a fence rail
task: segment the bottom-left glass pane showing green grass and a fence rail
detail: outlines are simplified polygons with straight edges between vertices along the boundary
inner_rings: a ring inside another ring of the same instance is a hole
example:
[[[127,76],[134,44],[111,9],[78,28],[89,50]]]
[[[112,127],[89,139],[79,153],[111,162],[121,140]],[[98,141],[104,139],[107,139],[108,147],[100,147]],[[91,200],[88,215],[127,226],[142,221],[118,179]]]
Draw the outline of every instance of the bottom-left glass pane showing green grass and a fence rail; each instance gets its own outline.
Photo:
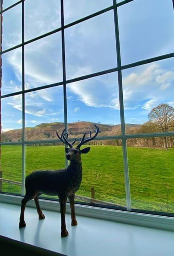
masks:
[[[21,195],[22,146],[0,146],[0,192]]]

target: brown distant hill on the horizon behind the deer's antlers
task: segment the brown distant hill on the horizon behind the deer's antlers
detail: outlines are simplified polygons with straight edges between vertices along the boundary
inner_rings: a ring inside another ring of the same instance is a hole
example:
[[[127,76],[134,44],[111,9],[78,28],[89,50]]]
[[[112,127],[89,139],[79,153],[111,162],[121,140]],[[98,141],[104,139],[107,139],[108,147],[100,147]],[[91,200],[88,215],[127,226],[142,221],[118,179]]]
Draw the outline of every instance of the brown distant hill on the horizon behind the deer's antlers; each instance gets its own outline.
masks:
[[[97,124],[97,123],[96,123]],[[100,130],[100,136],[109,135],[120,135],[121,129],[120,124],[109,125],[109,124],[97,124]],[[129,129],[136,129],[140,127],[140,124],[126,124]],[[26,141],[39,141],[47,139],[57,139],[56,131],[61,134],[64,129],[64,123],[42,123],[34,127],[25,128],[25,140]],[[81,137],[84,132],[89,135],[90,130],[94,131],[94,123],[79,121],[76,123],[68,124],[68,135],[69,138]],[[22,140],[22,129],[10,130],[3,132],[1,135],[1,142],[8,141],[21,141]]]

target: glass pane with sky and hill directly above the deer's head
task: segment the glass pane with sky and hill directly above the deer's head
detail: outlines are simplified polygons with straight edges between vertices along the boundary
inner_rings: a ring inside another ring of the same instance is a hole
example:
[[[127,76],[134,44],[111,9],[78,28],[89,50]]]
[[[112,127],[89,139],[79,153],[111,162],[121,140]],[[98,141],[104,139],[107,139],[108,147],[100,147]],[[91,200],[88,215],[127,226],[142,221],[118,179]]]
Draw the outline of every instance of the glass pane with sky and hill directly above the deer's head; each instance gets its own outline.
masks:
[[[120,135],[117,72],[67,84],[67,115],[70,137],[100,128],[98,136]]]

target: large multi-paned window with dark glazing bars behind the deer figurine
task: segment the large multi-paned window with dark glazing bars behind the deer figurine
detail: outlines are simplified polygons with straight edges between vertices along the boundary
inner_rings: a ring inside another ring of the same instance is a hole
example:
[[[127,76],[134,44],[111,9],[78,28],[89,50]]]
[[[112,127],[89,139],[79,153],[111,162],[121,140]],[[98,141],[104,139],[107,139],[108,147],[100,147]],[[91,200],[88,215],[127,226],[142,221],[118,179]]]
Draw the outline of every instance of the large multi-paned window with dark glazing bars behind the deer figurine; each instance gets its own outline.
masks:
[[[173,8],[0,0],[0,193],[65,168],[56,131],[78,141],[95,123],[76,202],[174,214]]]

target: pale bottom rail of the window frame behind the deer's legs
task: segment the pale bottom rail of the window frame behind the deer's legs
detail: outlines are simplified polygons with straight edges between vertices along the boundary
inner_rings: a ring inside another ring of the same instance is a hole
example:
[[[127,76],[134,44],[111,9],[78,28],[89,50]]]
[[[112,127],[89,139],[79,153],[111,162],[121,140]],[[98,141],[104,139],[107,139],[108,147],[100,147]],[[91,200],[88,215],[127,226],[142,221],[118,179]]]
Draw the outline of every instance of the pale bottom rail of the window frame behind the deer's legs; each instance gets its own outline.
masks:
[[[21,197],[0,194],[0,202],[21,205]],[[41,208],[44,210],[60,212],[59,202],[57,201],[39,199],[39,202]],[[34,200],[29,201],[27,203],[27,206],[36,208]],[[144,226],[149,228],[163,229],[166,231],[174,231],[173,217],[134,213],[121,210],[112,210],[80,204],[75,205],[75,211],[76,214],[79,216],[86,216],[103,220],[112,220],[115,222]],[[66,213],[70,213],[70,205],[68,203],[66,205]]]

